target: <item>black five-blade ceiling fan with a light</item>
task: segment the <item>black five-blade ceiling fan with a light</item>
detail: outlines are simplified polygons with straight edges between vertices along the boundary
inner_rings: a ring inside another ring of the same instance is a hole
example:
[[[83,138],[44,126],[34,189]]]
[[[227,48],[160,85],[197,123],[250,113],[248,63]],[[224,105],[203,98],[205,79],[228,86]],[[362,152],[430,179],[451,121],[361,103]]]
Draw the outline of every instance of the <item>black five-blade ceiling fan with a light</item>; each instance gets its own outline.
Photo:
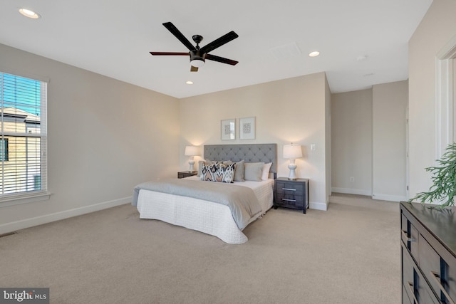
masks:
[[[207,45],[203,46],[202,48],[199,48],[199,43],[202,41],[202,36],[200,35],[193,35],[193,41],[197,43],[196,46],[193,46],[190,41],[188,41],[187,38],[185,38],[184,35],[175,27],[174,24],[171,22],[165,22],[163,23],[163,26],[168,29],[177,39],[179,39],[180,42],[184,44],[184,46],[187,46],[187,48],[190,50],[188,53],[176,53],[176,52],[150,52],[153,56],[190,56],[190,64],[192,65],[190,67],[191,72],[197,72],[198,68],[202,67],[206,61],[206,59],[210,61],[218,61],[221,63],[227,63],[230,65],[236,65],[238,62],[233,61],[231,59],[215,56],[209,54],[210,51],[214,51],[214,49],[218,48],[219,46],[223,46],[225,43],[228,43],[229,41],[232,41],[233,39],[236,39],[239,37],[237,33],[234,33],[234,31],[230,31],[229,33],[225,34],[224,36],[215,39],[211,43],[208,43]]]

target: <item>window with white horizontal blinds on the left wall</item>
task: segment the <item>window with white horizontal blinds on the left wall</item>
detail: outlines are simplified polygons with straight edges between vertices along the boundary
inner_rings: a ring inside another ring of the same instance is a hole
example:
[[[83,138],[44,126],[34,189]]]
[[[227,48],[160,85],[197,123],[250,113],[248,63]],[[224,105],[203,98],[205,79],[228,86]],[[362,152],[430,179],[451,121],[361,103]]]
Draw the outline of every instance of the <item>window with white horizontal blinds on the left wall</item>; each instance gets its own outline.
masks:
[[[47,194],[46,91],[0,72],[0,201]]]

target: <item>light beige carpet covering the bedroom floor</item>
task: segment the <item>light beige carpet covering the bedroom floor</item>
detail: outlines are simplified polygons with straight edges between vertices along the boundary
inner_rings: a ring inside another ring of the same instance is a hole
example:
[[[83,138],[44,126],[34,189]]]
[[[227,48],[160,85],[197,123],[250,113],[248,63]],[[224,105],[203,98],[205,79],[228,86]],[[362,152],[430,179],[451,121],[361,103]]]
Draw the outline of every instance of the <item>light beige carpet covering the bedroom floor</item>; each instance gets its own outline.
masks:
[[[334,194],[271,209],[242,245],[139,219],[129,204],[0,238],[0,286],[51,303],[400,303],[399,206]]]

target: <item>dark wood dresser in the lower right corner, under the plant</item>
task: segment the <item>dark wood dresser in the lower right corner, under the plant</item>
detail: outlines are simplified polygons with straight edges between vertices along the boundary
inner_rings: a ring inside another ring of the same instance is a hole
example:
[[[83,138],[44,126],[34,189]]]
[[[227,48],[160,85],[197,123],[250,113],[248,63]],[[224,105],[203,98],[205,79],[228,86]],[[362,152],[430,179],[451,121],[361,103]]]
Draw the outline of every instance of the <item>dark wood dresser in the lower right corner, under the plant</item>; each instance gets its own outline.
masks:
[[[402,303],[456,300],[456,207],[400,203]]]

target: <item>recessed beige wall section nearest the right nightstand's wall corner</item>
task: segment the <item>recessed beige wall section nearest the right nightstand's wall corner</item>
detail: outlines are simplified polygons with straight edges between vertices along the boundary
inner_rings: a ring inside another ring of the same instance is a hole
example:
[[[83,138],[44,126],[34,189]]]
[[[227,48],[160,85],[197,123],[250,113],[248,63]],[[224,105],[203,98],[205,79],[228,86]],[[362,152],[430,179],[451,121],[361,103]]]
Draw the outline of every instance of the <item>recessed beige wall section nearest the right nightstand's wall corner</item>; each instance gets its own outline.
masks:
[[[372,90],[331,98],[332,191],[372,194]]]

